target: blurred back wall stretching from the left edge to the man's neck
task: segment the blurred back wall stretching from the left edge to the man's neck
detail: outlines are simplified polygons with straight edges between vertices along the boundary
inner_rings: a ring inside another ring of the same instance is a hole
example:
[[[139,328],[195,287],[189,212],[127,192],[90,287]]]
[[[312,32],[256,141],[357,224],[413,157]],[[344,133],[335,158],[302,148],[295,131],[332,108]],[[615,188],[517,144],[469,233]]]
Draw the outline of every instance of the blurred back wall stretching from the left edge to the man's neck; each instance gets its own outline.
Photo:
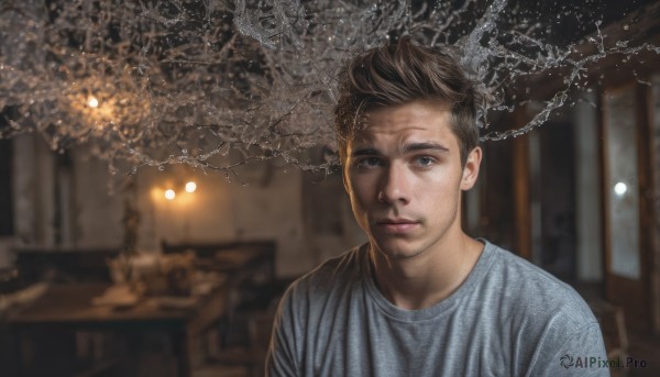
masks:
[[[158,252],[162,241],[275,240],[277,273],[286,277],[365,241],[341,186],[322,200],[337,202],[343,231],[316,234],[304,200],[314,191],[304,193],[304,173],[278,162],[242,167],[230,180],[223,173],[185,165],[110,175],[107,164],[89,157],[85,147],[70,151],[70,160],[63,163],[38,135],[14,143],[16,246],[121,247],[128,208],[139,213],[141,252]],[[188,179],[197,182],[194,193],[183,190]],[[164,197],[168,187],[178,191],[174,200]]]

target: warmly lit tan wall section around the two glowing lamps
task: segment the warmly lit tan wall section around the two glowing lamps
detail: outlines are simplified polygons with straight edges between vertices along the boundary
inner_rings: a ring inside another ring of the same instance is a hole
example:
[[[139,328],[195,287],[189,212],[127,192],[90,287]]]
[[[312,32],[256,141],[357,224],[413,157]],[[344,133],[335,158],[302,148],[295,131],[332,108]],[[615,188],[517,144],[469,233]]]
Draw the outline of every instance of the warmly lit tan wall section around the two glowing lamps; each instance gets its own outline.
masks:
[[[197,184],[193,193],[180,189],[189,179]],[[172,185],[178,193],[167,200],[164,190]],[[136,187],[140,248],[157,250],[162,240],[276,240],[278,274],[301,274],[312,267],[315,256],[305,247],[300,188],[301,173],[290,167],[256,166],[239,171],[231,181],[222,173],[204,174],[185,166],[165,173],[146,168]]]

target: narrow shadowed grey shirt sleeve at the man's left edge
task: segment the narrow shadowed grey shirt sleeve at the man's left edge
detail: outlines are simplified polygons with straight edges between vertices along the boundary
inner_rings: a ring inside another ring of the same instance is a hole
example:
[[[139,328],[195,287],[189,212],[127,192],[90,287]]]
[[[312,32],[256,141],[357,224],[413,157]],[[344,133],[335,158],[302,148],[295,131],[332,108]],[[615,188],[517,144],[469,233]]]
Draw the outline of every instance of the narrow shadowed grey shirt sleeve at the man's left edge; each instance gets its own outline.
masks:
[[[296,340],[299,332],[296,326],[294,307],[294,293],[289,288],[279,302],[273,323],[271,344],[266,354],[266,377],[300,375],[296,357]]]

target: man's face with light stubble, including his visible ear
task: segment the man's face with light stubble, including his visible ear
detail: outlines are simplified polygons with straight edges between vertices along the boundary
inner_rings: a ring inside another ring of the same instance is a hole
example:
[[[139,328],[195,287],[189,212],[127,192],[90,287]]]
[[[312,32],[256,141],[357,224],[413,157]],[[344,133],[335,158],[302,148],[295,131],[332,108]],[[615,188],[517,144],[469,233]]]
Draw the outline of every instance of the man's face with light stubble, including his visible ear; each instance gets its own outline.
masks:
[[[386,256],[413,257],[462,234],[461,190],[476,181],[481,149],[461,166],[450,114],[424,101],[378,108],[346,145],[344,185],[353,213]]]

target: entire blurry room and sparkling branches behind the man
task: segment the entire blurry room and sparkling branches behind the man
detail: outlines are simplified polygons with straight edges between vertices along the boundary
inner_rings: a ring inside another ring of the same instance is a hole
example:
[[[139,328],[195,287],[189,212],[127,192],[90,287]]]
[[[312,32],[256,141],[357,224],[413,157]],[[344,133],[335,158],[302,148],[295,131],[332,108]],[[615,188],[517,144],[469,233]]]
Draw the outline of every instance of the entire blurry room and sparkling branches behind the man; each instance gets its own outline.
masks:
[[[659,22],[657,1],[3,2],[0,375],[260,375],[287,284],[366,241],[333,75],[403,34],[491,96],[464,228],[575,287],[614,375],[657,375]]]

